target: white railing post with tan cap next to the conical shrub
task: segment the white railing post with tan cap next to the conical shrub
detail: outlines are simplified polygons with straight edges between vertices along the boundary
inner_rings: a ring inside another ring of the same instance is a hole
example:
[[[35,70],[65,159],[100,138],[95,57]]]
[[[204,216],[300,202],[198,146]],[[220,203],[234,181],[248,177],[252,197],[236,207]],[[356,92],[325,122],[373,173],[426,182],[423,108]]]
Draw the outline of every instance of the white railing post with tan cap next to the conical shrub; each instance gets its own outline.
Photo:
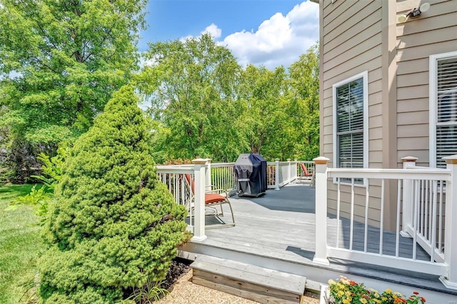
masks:
[[[205,235],[205,164],[206,159],[197,158],[194,163],[194,237],[192,240],[204,240]]]

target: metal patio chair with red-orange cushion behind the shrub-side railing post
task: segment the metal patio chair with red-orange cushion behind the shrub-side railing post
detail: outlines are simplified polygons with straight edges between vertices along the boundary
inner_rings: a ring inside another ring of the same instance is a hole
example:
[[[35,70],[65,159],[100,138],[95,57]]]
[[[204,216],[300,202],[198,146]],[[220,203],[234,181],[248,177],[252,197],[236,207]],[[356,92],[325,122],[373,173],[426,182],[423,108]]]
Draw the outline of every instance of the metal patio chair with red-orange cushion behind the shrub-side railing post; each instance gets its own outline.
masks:
[[[191,201],[193,201],[194,191],[195,191],[194,179],[191,177],[191,175],[189,173],[184,174],[184,177],[186,178],[187,186],[189,186],[189,188],[190,188]],[[232,223],[224,223],[224,221],[222,221],[221,218],[219,218],[219,216],[224,216],[224,208],[222,207],[224,204],[229,205]],[[216,208],[218,206],[221,208],[220,212],[219,212],[218,208]],[[194,206],[191,205],[191,208],[194,209]],[[211,191],[206,191],[205,192],[205,209],[206,208],[210,208],[212,210],[212,212],[210,212],[210,213],[205,212],[205,216],[215,216],[221,222],[220,224],[208,225],[208,226],[206,226],[206,229],[235,226],[235,217],[233,216],[233,209],[231,208],[231,203],[229,201],[229,192],[228,191],[225,191],[223,189],[214,189]]]

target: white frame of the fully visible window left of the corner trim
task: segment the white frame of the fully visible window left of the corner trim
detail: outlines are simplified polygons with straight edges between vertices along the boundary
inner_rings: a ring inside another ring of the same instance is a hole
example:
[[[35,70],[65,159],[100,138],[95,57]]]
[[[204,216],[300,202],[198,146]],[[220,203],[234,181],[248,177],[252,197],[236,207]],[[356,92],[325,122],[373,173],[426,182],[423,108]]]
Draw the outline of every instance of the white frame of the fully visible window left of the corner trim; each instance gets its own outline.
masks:
[[[356,74],[350,78],[346,78],[343,81],[334,83],[332,86],[333,93],[333,159],[334,166],[338,168],[338,111],[336,101],[336,89],[339,86],[343,86],[347,83],[355,81],[359,78],[363,78],[363,168],[368,168],[368,71]],[[336,183],[336,178],[333,178],[333,183]],[[341,182],[343,183],[343,182]],[[367,186],[367,179],[363,178],[363,183],[354,183],[354,186]]]

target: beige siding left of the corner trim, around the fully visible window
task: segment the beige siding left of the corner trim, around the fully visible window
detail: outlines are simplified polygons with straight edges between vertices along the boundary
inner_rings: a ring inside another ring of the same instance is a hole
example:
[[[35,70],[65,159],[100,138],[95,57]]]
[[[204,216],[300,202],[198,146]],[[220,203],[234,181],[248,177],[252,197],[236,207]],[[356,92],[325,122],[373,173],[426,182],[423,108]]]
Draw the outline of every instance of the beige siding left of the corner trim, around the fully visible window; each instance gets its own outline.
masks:
[[[382,1],[321,1],[321,151],[333,167],[333,84],[368,71],[368,165],[383,166]],[[370,16],[370,18],[366,18]],[[344,39],[342,39],[344,37]],[[329,183],[329,212],[336,213],[336,185]],[[341,186],[342,216],[349,216],[351,188]],[[363,221],[365,188],[356,187],[356,221]],[[381,187],[371,181],[369,223],[378,225]]]

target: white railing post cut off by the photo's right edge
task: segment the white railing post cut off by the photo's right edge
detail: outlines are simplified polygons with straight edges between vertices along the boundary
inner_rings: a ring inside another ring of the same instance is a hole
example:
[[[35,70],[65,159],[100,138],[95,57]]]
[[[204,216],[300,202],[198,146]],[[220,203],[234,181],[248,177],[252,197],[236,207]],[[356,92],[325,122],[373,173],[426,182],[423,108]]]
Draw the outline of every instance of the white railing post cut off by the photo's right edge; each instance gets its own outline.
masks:
[[[451,170],[451,181],[446,183],[446,212],[444,222],[444,263],[449,271],[441,282],[457,290],[457,155],[443,157],[446,168]]]

